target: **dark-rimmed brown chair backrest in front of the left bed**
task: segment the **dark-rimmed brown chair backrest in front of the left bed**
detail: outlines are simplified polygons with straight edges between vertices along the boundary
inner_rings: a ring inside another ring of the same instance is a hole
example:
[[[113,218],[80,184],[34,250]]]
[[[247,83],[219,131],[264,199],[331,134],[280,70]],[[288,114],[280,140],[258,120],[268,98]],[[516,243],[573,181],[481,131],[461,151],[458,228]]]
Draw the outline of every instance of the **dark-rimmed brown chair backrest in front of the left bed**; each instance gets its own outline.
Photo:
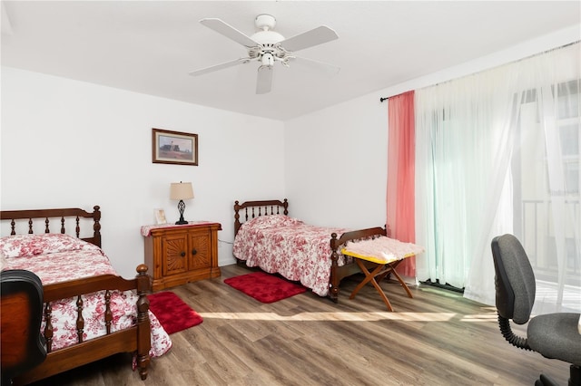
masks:
[[[0,335],[2,379],[9,381],[44,362],[46,348],[40,333],[43,285],[30,271],[0,272]]]

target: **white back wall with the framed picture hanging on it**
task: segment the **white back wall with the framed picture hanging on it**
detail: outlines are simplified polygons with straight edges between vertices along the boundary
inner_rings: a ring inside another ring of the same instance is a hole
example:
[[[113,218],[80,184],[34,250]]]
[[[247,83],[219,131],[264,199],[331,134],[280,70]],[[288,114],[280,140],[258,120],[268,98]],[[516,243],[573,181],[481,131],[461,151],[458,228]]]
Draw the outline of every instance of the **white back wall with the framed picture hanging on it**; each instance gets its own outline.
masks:
[[[153,164],[152,128],[197,133],[199,166]],[[2,208],[101,206],[103,249],[125,277],[153,208],[179,217],[180,180],[195,194],[185,219],[220,222],[220,265],[233,263],[233,202],[284,196],[283,142],[280,121],[2,68]]]

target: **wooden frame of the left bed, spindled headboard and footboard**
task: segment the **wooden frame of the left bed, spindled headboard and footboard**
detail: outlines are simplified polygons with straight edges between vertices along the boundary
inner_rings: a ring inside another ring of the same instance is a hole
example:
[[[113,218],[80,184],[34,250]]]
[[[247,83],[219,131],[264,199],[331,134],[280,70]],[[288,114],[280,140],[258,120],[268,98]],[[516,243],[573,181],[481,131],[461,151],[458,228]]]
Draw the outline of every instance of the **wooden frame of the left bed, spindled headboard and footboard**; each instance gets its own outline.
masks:
[[[98,206],[94,207],[93,212],[86,212],[80,208],[63,208],[63,209],[39,209],[39,210],[3,210],[0,212],[2,221],[10,220],[11,235],[16,234],[16,224],[27,220],[28,234],[33,234],[34,219],[44,219],[44,233],[51,233],[49,225],[50,219],[57,217],[60,220],[59,232],[67,233],[65,229],[65,218],[74,217],[74,235],[95,246],[101,247],[101,211]],[[81,237],[81,219],[93,219],[93,236]],[[22,233],[22,232],[21,232]],[[142,380],[147,378],[147,372],[150,362],[149,351],[151,348],[151,325],[149,320],[149,301],[147,294],[151,293],[151,280],[147,275],[147,265],[139,265],[136,270],[138,275],[131,280],[124,279],[117,275],[99,275],[84,279],[71,280],[68,282],[57,283],[53,285],[44,285],[44,318],[50,313],[50,303],[69,297],[80,298],[81,294],[92,294],[97,291],[105,291],[107,298],[109,291],[119,290],[136,290],[139,296],[137,301],[137,321],[131,328],[111,332],[88,341],[82,339],[82,330],[84,319],[81,314],[77,314],[75,321],[77,330],[81,332],[79,343],[63,349],[51,351],[50,342],[52,341],[52,325],[47,323],[44,329],[44,339],[47,343],[46,360],[40,365],[34,367],[29,372],[15,378],[15,384],[25,384],[33,381],[50,377],[59,372],[65,372],[86,363],[94,362],[105,357],[111,356],[118,352],[137,352],[137,367]],[[105,303],[108,302],[105,300]],[[2,315],[3,318],[9,315]],[[113,314],[107,305],[105,311],[105,323],[110,324]],[[110,328],[109,328],[110,329]],[[4,347],[3,347],[4,348]],[[130,365],[131,363],[128,363]]]

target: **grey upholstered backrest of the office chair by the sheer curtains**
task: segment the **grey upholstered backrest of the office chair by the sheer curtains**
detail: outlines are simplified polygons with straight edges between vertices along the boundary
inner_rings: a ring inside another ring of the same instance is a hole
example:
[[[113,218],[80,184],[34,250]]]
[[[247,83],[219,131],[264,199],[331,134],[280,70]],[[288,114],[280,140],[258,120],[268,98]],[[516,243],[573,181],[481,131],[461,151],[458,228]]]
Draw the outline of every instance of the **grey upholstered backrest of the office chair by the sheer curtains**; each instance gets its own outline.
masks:
[[[528,322],[535,303],[535,274],[525,249],[513,235],[492,240],[497,311],[517,324]]]

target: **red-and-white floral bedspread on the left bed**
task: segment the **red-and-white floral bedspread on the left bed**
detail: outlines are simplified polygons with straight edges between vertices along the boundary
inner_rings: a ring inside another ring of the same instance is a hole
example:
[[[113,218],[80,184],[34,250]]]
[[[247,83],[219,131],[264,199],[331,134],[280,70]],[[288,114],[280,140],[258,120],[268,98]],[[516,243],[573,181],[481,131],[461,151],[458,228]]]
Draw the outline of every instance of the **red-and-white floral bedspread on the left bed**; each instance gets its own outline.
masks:
[[[19,235],[0,238],[2,269],[25,269],[38,275],[43,285],[91,277],[117,275],[109,258],[98,246],[78,238],[60,234]],[[105,334],[103,291],[84,295],[84,341]],[[135,324],[138,296],[133,291],[113,291],[111,310],[112,331]],[[76,343],[76,299],[53,302],[53,350]],[[150,355],[161,356],[172,347],[172,340],[155,315],[150,311],[152,348]],[[41,326],[44,331],[44,321]]]

